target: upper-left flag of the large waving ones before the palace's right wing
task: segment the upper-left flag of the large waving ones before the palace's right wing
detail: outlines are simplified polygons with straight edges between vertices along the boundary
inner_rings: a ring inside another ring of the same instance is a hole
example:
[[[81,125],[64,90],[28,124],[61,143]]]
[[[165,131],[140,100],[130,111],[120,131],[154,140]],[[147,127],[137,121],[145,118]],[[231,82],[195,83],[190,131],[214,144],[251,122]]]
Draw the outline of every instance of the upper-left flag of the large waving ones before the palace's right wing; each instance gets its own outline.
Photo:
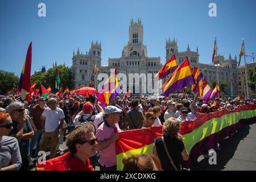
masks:
[[[166,61],[166,64],[163,65],[160,71],[156,74],[155,78],[158,77],[160,80],[169,75],[170,73],[173,73],[176,68],[177,61],[175,55],[173,55],[168,61]]]

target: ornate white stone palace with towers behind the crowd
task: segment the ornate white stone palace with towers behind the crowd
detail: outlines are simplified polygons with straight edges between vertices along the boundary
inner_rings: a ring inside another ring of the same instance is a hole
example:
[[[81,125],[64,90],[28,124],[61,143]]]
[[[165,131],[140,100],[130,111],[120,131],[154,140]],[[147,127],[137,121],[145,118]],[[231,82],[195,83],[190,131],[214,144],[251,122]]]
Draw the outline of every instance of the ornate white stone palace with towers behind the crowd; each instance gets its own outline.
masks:
[[[123,47],[122,56],[119,58],[109,58],[108,64],[101,65],[101,43],[92,42],[89,53],[86,54],[80,53],[79,49],[75,55],[73,52],[73,64],[71,71],[73,73],[73,80],[75,83],[75,88],[79,88],[81,85],[89,85],[90,75],[95,64],[97,64],[99,73],[106,73],[110,75],[110,70],[117,68],[117,73],[124,73],[130,84],[133,84],[133,77],[129,77],[129,73],[158,73],[162,64],[160,63],[160,57],[148,57],[147,47],[143,45],[143,25],[141,19],[138,19],[138,22],[134,22],[131,19],[129,26],[129,41],[126,46]],[[199,49],[196,47],[196,51],[191,51],[189,45],[186,51],[179,52],[177,46],[177,39],[166,41],[166,61],[175,54],[177,59],[177,64],[182,63],[186,57],[188,57],[191,67],[197,67],[201,69],[207,81],[217,80],[217,65],[218,65],[218,77],[219,80],[224,81],[228,84],[228,87],[225,88],[225,94],[237,96],[242,92],[243,88],[240,85],[238,89],[238,68],[237,68],[237,56],[232,59],[229,55],[229,59],[225,60],[224,56],[218,55],[214,59],[214,65],[212,64],[203,64],[199,63]],[[211,62],[210,60],[208,61]],[[118,79],[119,80],[119,79]],[[155,82],[151,79],[145,81],[142,78],[139,79],[139,82],[134,82],[133,86],[127,84],[131,93],[148,93],[148,90],[154,88]],[[233,82],[231,82],[233,80]],[[96,78],[93,77],[93,84],[98,85],[102,80],[96,82]],[[164,81],[164,80],[163,80]],[[142,83],[146,82],[147,85]],[[232,89],[231,89],[232,86]],[[146,87],[146,88],[145,88]],[[126,90],[126,89],[124,89]],[[241,93],[242,94],[242,93]]]

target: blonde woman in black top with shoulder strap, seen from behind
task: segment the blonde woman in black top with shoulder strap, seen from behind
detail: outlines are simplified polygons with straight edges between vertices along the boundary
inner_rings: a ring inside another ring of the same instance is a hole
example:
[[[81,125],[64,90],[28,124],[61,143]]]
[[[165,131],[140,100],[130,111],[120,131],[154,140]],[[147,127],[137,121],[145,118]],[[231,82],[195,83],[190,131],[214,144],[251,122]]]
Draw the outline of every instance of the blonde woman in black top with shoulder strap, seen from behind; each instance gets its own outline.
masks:
[[[163,125],[163,137],[155,139],[153,154],[158,156],[164,171],[179,171],[181,159],[188,160],[188,152],[179,134],[180,122],[169,118]]]

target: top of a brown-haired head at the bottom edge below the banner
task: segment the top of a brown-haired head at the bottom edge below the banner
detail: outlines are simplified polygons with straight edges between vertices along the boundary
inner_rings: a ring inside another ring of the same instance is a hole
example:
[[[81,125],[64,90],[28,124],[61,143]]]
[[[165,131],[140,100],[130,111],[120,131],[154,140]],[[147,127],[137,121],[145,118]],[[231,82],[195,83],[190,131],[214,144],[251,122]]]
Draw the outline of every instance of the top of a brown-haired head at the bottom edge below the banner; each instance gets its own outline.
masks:
[[[123,158],[123,171],[161,171],[160,160],[154,154],[132,155]]]

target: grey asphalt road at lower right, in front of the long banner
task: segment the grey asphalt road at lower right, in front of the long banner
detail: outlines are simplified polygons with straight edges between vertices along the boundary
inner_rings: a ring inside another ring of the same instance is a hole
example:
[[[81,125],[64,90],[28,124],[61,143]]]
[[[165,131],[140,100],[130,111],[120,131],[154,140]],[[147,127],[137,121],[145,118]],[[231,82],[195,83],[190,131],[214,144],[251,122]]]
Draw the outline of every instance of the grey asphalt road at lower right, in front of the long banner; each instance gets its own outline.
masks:
[[[227,139],[219,142],[216,150],[217,164],[210,165],[208,159],[200,161],[196,171],[256,171],[256,121],[246,123]]]

